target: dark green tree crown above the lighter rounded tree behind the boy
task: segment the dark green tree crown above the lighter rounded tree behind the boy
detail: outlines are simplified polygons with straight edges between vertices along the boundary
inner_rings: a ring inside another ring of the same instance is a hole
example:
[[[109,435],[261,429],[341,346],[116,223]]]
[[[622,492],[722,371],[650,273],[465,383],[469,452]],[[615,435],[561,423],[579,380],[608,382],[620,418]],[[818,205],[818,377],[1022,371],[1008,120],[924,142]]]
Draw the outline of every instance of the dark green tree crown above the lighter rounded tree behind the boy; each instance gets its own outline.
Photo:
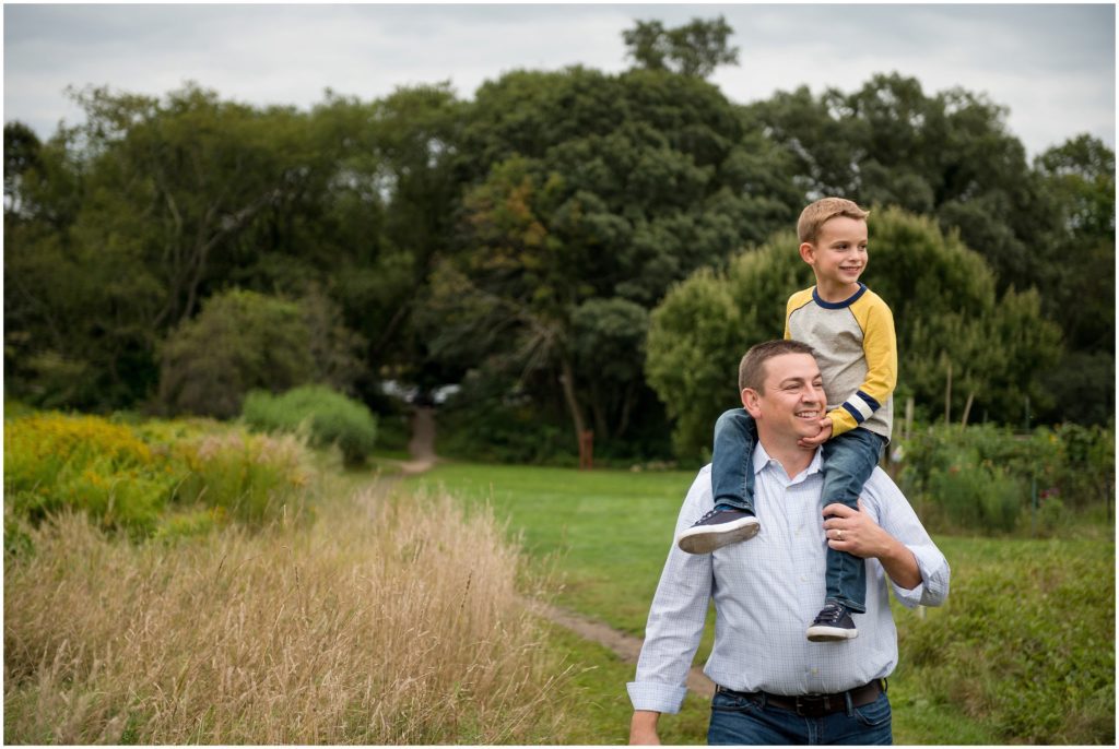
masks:
[[[927,95],[914,78],[875,75],[850,94],[807,87],[747,107],[794,160],[809,198],[834,195],[937,216],[995,271],[999,291],[1041,285],[1052,258],[1042,186],[1006,110],[953,88]]]

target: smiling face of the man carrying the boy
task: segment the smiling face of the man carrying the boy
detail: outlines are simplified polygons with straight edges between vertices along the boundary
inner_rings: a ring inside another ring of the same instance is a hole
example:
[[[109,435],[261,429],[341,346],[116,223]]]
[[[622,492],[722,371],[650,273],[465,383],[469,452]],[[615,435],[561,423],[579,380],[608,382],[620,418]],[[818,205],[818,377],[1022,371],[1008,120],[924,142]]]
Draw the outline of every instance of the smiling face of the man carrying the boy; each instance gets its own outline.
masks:
[[[807,353],[783,353],[764,363],[765,386],[761,392],[743,391],[743,404],[773,436],[794,439],[815,437],[827,411],[827,397],[816,358]]]

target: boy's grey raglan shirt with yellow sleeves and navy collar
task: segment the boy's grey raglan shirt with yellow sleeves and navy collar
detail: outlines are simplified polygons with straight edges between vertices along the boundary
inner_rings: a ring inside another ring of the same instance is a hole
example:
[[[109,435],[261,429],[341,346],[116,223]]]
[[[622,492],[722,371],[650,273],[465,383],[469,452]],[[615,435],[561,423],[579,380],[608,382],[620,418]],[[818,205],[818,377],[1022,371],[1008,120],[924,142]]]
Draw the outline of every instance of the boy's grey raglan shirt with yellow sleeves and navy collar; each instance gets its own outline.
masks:
[[[855,427],[890,439],[897,385],[894,316],[882,297],[858,285],[843,302],[825,302],[816,287],[786,306],[784,336],[816,349],[835,437]]]

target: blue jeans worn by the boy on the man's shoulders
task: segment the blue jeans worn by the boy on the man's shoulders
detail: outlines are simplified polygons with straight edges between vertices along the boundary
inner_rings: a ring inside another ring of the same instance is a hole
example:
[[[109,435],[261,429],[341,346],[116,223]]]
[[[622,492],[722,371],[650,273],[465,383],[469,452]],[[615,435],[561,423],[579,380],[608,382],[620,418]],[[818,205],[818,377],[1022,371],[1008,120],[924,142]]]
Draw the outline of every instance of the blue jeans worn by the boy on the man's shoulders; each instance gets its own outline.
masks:
[[[718,417],[711,468],[716,506],[725,504],[754,513],[756,442],[754,420],[744,408],[731,409]],[[824,443],[824,506],[838,502],[858,510],[858,495],[874,473],[885,444],[881,436],[862,427]],[[859,614],[866,611],[864,560],[828,547],[827,600]]]

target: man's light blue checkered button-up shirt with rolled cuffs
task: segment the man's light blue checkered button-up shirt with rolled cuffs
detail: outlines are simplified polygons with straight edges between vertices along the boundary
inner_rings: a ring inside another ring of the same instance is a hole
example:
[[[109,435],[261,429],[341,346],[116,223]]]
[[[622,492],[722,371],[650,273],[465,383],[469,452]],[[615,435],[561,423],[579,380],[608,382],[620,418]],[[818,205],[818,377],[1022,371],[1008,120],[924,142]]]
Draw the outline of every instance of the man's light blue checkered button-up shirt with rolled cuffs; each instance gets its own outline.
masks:
[[[893,672],[897,632],[887,585],[909,608],[939,606],[948,596],[948,560],[890,476],[876,468],[863,490],[863,505],[913,552],[922,582],[900,588],[878,560],[868,559],[866,614],[854,615],[858,637],[809,642],[805,631],[825,597],[820,455],[817,451],[808,468],[790,480],[759,444],[753,455],[758,535],[709,554],[689,554],[673,543],[649,611],[637,680],[628,685],[634,710],[679,711],[713,596],[715,645],[704,672],[716,684],[740,692],[826,694]],[[713,506],[708,465],[688,491],[676,532]]]

